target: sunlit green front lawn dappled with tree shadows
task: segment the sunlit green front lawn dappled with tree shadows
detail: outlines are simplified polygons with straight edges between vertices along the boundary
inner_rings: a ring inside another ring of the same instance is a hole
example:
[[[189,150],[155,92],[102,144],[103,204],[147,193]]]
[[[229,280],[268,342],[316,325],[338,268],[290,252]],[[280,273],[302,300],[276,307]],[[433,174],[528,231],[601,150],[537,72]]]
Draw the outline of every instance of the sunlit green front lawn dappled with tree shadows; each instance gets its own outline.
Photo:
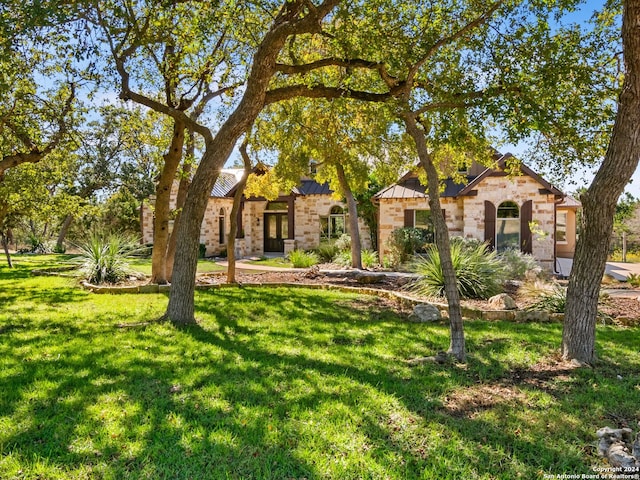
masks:
[[[48,263],[48,257],[42,258]],[[467,365],[374,297],[94,295],[0,267],[0,478],[514,479],[589,474],[595,431],[640,420],[638,331],[598,326],[597,369],[546,372],[561,326],[466,323]],[[44,266],[44,265],[43,265]],[[620,376],[620,378],[618,378]]]

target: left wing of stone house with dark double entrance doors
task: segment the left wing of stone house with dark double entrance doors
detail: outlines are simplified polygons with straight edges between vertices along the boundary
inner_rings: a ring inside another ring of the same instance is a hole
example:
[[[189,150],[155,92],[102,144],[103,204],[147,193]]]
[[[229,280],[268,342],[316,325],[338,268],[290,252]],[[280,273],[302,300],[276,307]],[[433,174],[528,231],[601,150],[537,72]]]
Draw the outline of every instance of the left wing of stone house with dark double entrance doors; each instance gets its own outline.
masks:
[[[266,168],[262,165],[254,171]],[[223,169],[213,189],[200,230],[200,243],[205,255],[226,252],[231,207],[242,169]],[[171,208],[175,208],[177,182],[171,192]],[[154,198],[144,202],[141,209],[143,243],[153,242]],[[172,228],[172,225],[170,225]],[[370,235],[360,220],[363,247],[370,248]],[[322,242],[334,240],[348,233],[346,205],[336,199],[327,184],[303,178],[290,192],[282,192],[273,201],[243,196],[238,214],[236,255],[261,256],[268,253],[287,254],[295,249],[311,250]]]

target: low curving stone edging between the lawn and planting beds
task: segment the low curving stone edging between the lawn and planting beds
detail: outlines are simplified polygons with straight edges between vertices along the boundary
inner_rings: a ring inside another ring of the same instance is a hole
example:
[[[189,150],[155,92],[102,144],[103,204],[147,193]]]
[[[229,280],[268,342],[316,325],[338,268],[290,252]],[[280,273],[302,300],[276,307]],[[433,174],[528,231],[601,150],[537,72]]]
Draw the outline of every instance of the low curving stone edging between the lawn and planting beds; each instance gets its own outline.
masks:
[[[171,285],[131,285],[124,287],[99,286],[92,285],[88,282],[81,282],[83,288],[97,294],[120,294],[120,293],[168,293]],[[446,303],[433,303],[419,300],[404,293],[392,290],[382,290],[370,287],[348,287],[343,285],[333,285],[329,283],[270,283],[270,282],[245,282],[242,284],[216,283],[211,285],[196,285],[196,290],[216,290],[222,288],[244,288],[244,287],[273,287],[273,288],[308,288],[311,290],[335,290],[344,293],[361,293],[365,295],[373,295],[378,297],[395,300],[401,306],[413,308],[420,303],[431,303],[435,305],[444,316],[448,316],[448,306]],[[462,307],[462,316],[466,319],[478,319],[487,321],[515,321],[515,322],[563,322],[564,314],[548,313],[544,311],[528,311],[528,310],[480,310],[473,307]]]

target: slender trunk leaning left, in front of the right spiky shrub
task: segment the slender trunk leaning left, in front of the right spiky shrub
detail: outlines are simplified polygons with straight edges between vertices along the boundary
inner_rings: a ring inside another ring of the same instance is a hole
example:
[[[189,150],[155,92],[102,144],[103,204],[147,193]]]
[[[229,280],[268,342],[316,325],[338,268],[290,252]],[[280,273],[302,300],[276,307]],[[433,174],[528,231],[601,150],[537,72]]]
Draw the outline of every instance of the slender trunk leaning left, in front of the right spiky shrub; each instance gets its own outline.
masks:
[[[450,343],[448,353],[461,362],[466,359],[464,342],[464,325],[460,308],[460,294],[456,280],[456,272],[451,261],[451,244],[449,229],[440,205],[440,181],[438,172],[433,164],[424,133],[418,127],[416,118],[412,114],[405,114],[403,120],[407,133],[416,143],[420,165],[427,173],[427,192],[429,194],[429,208],[435,230],[436,247],[440,255],[442,274],[444,276],[444,290],[449,305]]]

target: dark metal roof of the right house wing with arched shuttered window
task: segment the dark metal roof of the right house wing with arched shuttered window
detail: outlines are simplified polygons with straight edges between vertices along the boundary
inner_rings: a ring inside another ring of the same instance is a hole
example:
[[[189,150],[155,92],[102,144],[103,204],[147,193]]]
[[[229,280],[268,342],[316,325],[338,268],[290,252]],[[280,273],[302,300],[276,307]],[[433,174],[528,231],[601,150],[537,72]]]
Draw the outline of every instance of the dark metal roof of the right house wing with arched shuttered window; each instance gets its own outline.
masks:
[[[467,175],[465,183],[456,183],[452,178],[447,178],[444,181],[444,191],[440,194],[441,197],[462,197],[465,195],[472,195],[473,191],[477,187],[477,185],[486,177],[500,173],[506,167],[506,161],[511,158],[512,155],[507,153],[505,155],[501,155],[497,158],[496,168],[486,168],[479,175],[471,176]],[[521,163],[520,171],[523,175],[528,175],[534,180],[536,180],[540,185],[542,185],[549,193],[558,196],[564,196],[564,194],[554,187],[552,184],[547,182],[544,178],[538,175],[536,172],[531,170],[528,166]],[[383,188],[378,193],[376,193],[373,198],[381,199],[381,198],[427,198],[428,195],[426,193],[427,187],[420,183],[418,177],[414,174],[414,172],[408,172],[398,180],[397,183],[390,185],[386,188]]]

